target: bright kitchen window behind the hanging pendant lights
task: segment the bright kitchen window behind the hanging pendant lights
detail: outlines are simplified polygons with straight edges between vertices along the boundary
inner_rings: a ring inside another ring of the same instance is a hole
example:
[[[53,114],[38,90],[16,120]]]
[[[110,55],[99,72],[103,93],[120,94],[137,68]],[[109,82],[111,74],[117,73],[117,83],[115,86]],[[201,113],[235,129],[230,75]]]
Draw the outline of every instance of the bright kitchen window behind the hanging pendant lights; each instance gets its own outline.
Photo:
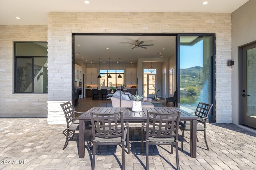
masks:
[[[118,75],[122,78],[118,78]],[[111,75],[111,78],[108,78],[108,75]],[[122,86],[124,84],[124,70],[100,70],[100,86],[110,87],[112,86]]]

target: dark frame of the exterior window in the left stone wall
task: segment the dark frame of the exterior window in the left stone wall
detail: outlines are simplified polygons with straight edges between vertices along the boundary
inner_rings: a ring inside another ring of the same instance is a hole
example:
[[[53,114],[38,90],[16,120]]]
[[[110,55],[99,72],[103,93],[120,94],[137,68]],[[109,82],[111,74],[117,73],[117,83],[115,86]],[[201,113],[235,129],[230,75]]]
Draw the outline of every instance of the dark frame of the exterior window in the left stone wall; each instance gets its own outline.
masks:
[[[34,81],[32,81],[32,92],[16,92],[16,73],[17,73],[17,59],[32,59],[32,77],[34,77],[34,58],[47,58],[48,62],[48,56],[24,56],[24,55],[16,55],[16,43],[48,43],[47,41],[16,41],[14,42],[14,94],[48,94],[47,92],[37,93],[34,92]],[[47,77],[48,78],[48,77]],[[34,78],[33,78],[34,80]]]

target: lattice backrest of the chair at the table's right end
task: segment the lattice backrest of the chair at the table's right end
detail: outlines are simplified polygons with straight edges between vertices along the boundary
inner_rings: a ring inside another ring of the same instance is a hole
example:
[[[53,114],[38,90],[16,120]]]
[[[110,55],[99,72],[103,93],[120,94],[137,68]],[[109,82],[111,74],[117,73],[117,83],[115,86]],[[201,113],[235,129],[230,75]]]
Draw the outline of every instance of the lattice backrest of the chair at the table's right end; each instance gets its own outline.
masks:
[[[198,119],[208,117],[210,110],[212,109],[212,106],[213,104],[206,104],[203,102],[199,102],[196,108],[195,116],[197,116]],[[198,120],[198,122],[203,123],[205,125],[206,119]]]

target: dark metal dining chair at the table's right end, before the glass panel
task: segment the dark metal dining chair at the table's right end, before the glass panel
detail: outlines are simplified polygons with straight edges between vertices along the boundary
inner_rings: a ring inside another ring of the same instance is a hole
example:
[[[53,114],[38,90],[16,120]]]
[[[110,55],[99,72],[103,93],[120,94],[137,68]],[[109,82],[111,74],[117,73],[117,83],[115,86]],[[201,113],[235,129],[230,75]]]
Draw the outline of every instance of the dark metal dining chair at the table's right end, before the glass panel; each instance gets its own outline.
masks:
[[[208,115],[210,110],[212,109],[213,104],[205,104],[199,102],[196,111],[192,114],[198,117],[196,124],[196,131],[204,131],[204,141],[207,147],[207,150],[210,150],[206,141],[206,120],[208,119]],[[182,139],[181,139],[181,150],[183,151],[183,141],[184,141],[184,131],[190,131],[190,121],[180,121],[180,130],[182,130]],[[198,137],[196,137],[198,141]]]

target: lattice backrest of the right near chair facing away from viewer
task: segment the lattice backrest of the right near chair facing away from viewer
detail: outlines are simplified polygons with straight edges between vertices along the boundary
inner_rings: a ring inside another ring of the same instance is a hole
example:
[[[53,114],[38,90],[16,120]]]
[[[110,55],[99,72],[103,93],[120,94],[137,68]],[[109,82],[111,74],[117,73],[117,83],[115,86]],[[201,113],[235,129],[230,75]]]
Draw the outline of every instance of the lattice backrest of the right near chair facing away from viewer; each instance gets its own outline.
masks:
[[[175,113],[154,113],[148,111],[146,125],[146,140],[149,137],[175,137],[178,140],[178,126],[180,111]]]

